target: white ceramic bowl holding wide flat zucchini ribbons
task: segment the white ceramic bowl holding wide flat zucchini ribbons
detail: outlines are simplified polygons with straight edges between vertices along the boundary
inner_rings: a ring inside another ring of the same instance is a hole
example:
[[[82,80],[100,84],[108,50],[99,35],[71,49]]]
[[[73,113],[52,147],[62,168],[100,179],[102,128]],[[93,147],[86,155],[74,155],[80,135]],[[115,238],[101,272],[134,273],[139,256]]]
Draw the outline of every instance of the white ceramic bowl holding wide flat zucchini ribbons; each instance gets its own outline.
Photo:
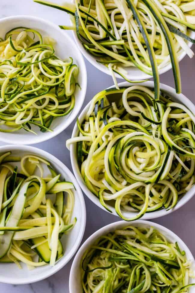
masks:
[[[51,166],[58,172],[58,174],[61,174],[62,179],[65,178],[67,181],[72,182],[76,188],[76,190],[73,191],[75,203],[72,219],[76,217],[77,222],[73,229],[70,230],[67,235],[62,237],[61,241],[64,247],[64,255],[59,259],[59,261],[56,262],[55,266],[50,267],[49,265],[45,265],[43,267],[37,267],[34,270],[28,270],[26,264],[21,263],[21,270],[14,263],[0,263],[0,282],[9,284],[29,284],[53,275],[62,267],[64,267],[65,264],[67,264],[67,262],[73,257],[81,243],[85,231],[85,201],[82,195],[82,191],[73,174],[63,163],[61,163],[51,154],[32,146],[5,145],[0,147],[0,154],[7,151],[12,151],[12,154],[16,156],[22,156],[24,154],[35,154],[44,158],[51,163]],[[15,165],[15,163],[13,163],[13,165]],[[45,175],[49,174],[49,170],[47,168],[44,171]]]

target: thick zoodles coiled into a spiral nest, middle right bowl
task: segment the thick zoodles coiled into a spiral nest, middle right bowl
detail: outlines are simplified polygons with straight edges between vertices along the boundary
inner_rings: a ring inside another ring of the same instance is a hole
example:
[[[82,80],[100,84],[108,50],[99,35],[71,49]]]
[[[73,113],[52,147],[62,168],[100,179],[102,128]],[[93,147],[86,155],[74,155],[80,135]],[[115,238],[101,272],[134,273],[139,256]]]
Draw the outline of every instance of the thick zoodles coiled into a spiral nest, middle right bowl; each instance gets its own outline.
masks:
[[[172,209],[195,182],[195,116],[161,91],[134,85],[97,93],[79,134],[78,163],[101,204],[126,221]],[[123,211],[134,212],[131,218]],[[137,211],[137,212],[136,212]]]

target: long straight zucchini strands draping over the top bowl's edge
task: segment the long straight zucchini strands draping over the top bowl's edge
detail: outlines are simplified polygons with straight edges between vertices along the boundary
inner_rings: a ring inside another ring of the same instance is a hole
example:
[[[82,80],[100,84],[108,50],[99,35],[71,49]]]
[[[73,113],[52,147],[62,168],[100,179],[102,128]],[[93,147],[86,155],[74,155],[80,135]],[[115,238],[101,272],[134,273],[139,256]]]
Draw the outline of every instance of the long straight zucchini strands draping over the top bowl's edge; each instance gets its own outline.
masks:
[[[70,14],[74,29],[85,50],[128,81],[125,67],[136,66],[153,75],[159,96],[159,74],[171,62],[176,91],[181,92],[178,57],[190,58],[190,33],[195,29],[195,2],[178,0],[75,0],[59,6],[34,0]]]

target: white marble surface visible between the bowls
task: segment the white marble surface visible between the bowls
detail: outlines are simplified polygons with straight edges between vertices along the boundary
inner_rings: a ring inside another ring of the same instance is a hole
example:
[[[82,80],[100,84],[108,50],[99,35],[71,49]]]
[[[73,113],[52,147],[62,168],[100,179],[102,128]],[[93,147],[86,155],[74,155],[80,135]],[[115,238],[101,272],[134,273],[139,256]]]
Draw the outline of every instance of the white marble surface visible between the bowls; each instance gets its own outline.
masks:
[[[53,2],[60,3],[60,0]],[[67,0],[68,2],[68,0]],[[33,3],[32,0],[0,0],[0,18],[26,14],[45,18],[58,25],[68,25],[69,18],[66,13],[57,11],[49,7],[41,6]],[[1,29],[1,28],[0,28]],[[72,36],[71,32],[69,34]],[[195,49],[193,48],[195,51]],[[109,87],[113,84],[112,78],[95,69],[87,60],[85,60],[88,74],[87,94],[83,107],[90,99],[100,90]],[[185,57],[180,63],[182,74],[182,92],[195,103],[195,61]],[[161,82],[174,87],[173,75],[169,71],[161,75]],[[63,133],[57,137],[40,144],[35,145],[60,159],[70,170],[69,151],[65,148],[66,139],[70,138],[73,125],[70,125]],[[0,142],[0,145],[3,143]],[[104,212],[96,207],[86,196],[85,203],[87,209],[87,224],[83,241],[87,239],[93,232],[119,218]],[[193,255],[195,256],[195,197],[192,198],[185,206],[170,215],[154,220],[155,222],[164,225],[174,231],[179,237],[184,240]],[[68,280],[72,261],[70,261],[63,269],[46,280],[30,285],[7,285],[0,283],[0,292],[9,293],[68,293]],[[75,292],[77,293],[77,292]],[[79,293],[79,292],[78,292]]]

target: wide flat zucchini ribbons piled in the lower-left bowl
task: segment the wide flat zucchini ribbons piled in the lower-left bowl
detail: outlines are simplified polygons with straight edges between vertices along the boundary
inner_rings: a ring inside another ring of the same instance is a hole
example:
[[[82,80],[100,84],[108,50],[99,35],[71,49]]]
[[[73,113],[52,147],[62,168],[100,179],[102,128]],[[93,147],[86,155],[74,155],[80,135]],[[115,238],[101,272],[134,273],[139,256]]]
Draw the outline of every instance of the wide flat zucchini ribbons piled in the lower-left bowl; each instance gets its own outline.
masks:
[[[0,169],[0,263],[21,267],[22,262],[29,269],[55,265],[64,254],[61,237],[76,223],[76,218],[70,223],[73,184],[32,154],[1,154]]]

